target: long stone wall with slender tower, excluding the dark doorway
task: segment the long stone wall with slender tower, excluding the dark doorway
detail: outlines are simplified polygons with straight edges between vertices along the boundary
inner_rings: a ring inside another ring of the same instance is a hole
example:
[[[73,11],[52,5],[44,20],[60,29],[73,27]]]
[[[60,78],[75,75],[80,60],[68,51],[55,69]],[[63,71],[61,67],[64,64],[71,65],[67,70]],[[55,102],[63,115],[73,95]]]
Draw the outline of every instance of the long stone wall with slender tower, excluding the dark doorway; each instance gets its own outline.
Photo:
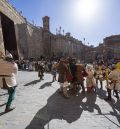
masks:
[[[50,32],[49,17],[43,18],[43,27],[30,24],[6,0],[0,1],[0,12],[14,22],[19,59],[41,56],[76,56],[82,58],[83,44],[70,33],[54,35]],[[4,47],[0,28],[0,46]],[[84,59],[84,58],[83,58]]]

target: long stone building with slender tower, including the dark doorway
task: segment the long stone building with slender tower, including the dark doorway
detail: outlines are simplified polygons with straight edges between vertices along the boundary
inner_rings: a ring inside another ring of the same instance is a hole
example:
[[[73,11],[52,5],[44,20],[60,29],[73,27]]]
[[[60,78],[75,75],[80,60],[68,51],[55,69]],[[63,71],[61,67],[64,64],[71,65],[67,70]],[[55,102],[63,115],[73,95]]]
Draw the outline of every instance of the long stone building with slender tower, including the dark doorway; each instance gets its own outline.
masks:
[[[8,50],[15,59],[41,56],[76,56],[81,58],[84,47],[81,41],[66,35],[50,32],[50,18],[43,17],[43,27],[29,23],[6,0],[0,1],[0,49]]]

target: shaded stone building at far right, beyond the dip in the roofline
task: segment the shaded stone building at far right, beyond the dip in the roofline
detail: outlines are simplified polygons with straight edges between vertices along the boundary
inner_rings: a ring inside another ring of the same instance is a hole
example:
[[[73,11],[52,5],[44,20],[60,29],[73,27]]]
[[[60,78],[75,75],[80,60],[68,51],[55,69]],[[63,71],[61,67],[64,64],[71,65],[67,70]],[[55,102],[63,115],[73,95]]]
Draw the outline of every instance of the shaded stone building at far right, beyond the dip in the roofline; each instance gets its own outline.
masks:
[[[120,35],[112,35],[104,38],[103,43],[100,43],[99,46],[94,47],[90,51],[92,53],[91,55],[94,55],[91,56],[91,61],[104,60],[105,62],[115,62],[120,60]]]

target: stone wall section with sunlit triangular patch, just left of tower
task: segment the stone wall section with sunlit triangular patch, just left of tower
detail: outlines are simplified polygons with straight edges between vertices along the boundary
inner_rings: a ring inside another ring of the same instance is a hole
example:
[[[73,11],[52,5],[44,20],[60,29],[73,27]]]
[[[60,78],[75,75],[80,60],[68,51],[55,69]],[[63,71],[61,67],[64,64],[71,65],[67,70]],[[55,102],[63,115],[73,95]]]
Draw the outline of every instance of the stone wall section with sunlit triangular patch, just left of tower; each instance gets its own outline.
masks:
[[[27,24],[28,58],[43,56],[43,30]]]

